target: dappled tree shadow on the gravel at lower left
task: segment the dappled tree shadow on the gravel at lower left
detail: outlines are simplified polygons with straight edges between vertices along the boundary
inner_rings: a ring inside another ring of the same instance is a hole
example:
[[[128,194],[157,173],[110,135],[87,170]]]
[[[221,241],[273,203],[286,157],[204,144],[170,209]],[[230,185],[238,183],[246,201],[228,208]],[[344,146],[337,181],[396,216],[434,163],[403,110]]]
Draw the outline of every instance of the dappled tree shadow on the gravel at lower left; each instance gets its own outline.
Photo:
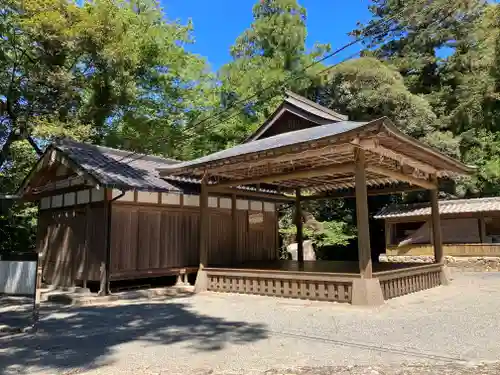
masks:
[[[0,340],[0,374],[24,373],[31,366],[48,373],[97,368],[112,362],[114,346],[136,340],[216,351],[228,343],[243,345],[268,337],[265,325],[201,315],[191,310],[189,300],[44,308],[36,334]]]

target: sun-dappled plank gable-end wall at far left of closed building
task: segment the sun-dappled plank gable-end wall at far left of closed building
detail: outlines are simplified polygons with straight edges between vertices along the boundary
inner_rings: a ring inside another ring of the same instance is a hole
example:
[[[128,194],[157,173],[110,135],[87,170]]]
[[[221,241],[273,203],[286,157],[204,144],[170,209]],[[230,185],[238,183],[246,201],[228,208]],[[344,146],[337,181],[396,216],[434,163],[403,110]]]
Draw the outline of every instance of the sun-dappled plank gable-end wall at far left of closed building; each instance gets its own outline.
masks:
[[[40,211],[37,250],[42,254],[44,280],[56,286],[99,280],[105,223],[102,203]]]

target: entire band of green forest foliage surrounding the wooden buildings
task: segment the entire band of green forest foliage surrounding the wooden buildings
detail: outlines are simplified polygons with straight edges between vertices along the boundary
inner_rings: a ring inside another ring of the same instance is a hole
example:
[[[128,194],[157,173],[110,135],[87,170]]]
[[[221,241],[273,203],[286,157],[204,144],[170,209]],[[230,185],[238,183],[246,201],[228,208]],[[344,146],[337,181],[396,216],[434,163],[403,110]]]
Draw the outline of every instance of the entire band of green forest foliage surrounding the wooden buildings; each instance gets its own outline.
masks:
[[[56,136],[192,158],[244,140],[285,89],[353,120],[388,116],[406,133],[477,165],[472,179],[447,188],[450,195],[500,193],[495,3],[374,0],[372,20],[351,33],[363,38],[361,57],[323,74],[328,60],[311,64],[330,46],[306,48],[307,12],[297,0],[259,0],[252,24],[231,47],[232,60],[217,72],[186,49],[193,25],[171,21],[154,0],[0,4],[0,194],[15,191]],[[371,209],[394,199],[373,199]],[[351,202],[306,209],[323,223],[307,233],[318,246],[349,242]],[[30,238],[16,233],[33,225],[32,214],[3,214],[2,243],[10,238],[7,247],[16,247],[20,237]],[[290,218],[288,212],[282,219],[285,234]]]

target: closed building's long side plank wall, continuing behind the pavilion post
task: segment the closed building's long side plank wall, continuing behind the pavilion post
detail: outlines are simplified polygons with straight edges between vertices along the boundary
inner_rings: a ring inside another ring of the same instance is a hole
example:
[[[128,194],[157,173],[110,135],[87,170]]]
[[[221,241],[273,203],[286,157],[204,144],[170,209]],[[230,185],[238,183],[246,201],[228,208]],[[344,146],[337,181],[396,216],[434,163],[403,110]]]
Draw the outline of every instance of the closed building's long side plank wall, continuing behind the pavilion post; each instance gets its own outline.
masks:
[[[248,227],[248,211],[209,210],[209,264],[276,259],[276,213],[264,212],[262,229]],[[166,275],[199,264],[199,208],[114,204],[111,214],[111,279]],[[236,248],[233,230],[236,228]]]

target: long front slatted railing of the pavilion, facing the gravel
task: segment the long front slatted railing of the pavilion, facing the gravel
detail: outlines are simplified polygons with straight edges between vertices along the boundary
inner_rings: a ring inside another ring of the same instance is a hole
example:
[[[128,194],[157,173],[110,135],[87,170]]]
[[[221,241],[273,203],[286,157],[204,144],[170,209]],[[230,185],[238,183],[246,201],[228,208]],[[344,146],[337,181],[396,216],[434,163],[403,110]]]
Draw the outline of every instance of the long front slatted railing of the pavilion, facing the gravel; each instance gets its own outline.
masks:
[[[206,268],[208,290],[273,297],[351,302],[358,276],[275,270]]]

